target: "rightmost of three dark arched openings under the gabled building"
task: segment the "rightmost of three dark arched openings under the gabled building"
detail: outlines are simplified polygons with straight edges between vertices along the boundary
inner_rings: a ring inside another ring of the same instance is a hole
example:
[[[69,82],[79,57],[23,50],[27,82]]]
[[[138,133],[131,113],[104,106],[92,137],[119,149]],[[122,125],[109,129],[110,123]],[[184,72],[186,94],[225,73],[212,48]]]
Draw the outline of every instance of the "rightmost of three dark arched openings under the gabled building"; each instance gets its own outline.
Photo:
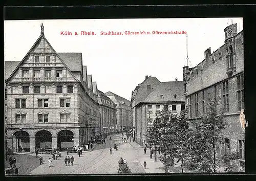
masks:
[[[60,150],[74,146],[74,133],[70,130],[61,130],[57,134],[57,145]]]

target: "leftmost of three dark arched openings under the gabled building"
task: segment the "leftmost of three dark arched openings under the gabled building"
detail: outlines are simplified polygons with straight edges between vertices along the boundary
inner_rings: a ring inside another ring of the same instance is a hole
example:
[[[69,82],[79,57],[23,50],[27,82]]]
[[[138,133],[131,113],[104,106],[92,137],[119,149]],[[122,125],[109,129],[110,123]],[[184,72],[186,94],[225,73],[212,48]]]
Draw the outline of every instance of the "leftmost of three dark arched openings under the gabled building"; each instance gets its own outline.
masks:
[[[12,135],[13,152],[29,152],[30,140],[27,131],[16,131]]]

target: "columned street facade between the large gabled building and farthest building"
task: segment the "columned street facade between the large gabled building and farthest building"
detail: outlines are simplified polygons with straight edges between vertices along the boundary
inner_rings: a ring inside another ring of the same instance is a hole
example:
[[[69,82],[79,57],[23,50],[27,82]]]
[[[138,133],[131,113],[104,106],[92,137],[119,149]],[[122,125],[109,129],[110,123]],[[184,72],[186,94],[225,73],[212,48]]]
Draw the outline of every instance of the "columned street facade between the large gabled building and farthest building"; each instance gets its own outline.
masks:
[[[117,126],[115,103],[100,90],[98,90],[98,102],[100,134],[114,133]]]

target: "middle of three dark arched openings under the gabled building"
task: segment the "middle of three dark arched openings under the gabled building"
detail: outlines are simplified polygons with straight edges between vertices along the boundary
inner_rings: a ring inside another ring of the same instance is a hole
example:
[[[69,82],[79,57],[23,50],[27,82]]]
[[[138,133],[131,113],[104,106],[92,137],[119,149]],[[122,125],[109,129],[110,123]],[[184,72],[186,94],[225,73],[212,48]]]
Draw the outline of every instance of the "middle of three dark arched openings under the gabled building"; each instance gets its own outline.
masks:
[[[52,148],[52,133],[47,130],[37,131],[35,134],[35,148]]]

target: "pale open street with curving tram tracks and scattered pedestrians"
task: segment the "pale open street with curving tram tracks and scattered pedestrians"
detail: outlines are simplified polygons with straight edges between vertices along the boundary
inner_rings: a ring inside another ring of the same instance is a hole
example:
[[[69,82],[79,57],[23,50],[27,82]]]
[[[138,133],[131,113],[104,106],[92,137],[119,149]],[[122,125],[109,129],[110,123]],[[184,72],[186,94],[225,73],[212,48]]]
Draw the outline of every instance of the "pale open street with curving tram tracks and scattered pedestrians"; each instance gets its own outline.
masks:
[[[109,136],[110,137],[110,136]],[[149,152],[144,154],[143,147],[130,140],[127,143],[122,143],[121,135],[111,135],[112,140],[106,139],[106,144],[97,144],[93,151],[83,152],[80,157],[76,153],[70,153],[69,156],[74,156],[74,164],[66,166],[64,159],[67,156],[66,152],[62,152],[58,160],[53,160],[50,154],[38,154],[44,159],[44,164],[39,164],[39,159],[36,159],[35,154],[14,155],[17,159],[17,164],[24,165],[19,169],[19,175],[38,175],[38,174],[118,174],[117,166],[120,157],[126,159],[129,165],[129,171],[126,173],[164,173],[163,164],[154,162],[150,159]],[[118,150],[114,150],[114,143],[118,144]],[[112,147],[112,154],[110,154]],[[30,158],[29,160],[26,158]],[[48,159],[52,159],[52,167],[48,166]],[[24,158],[24,159],[23,159]],[[144,169],[143,162],[146,160],[147,167]],[[29,162],[32,163],[29,163]],[[37,167],[36,167],[37,165]],[[24,168],[23,168],[24,167]]]

